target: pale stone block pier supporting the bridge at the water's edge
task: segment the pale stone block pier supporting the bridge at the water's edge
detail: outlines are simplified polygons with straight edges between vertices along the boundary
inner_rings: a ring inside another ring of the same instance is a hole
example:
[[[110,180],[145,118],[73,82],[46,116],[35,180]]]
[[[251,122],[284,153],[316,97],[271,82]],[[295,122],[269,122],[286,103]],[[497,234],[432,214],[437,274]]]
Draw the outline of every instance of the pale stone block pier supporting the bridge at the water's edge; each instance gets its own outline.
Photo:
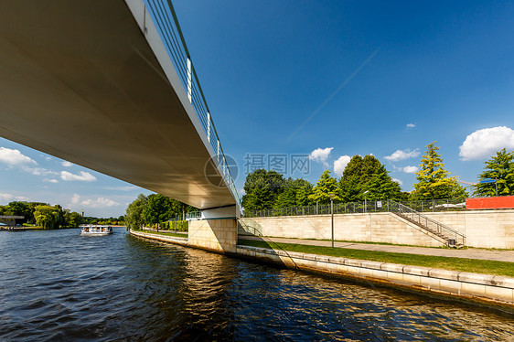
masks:
[[[238,241],[237,219],[198,219],[189,221],[189,245],[221,253],[235,253]]]

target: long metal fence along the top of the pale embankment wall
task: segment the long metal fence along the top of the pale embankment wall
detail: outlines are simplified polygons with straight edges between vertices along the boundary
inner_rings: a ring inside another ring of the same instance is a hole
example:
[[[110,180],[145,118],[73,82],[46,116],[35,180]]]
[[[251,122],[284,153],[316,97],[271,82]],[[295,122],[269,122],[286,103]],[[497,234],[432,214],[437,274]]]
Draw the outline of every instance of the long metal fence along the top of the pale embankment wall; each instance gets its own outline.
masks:
[[[391,200],[379,200],[350,203],[334,203],[334,214],[388,212],[393,210],[392,203],[397,202]],[[400,204],[419,212],[466,210],[466,198],[436,199],[434,200],[434,202],[432,200],[408,201],[400,202]],[[308,207],[245,210],[243,216],[245,218],[261,218],[273,216],[327,215],[331,212],[332,211],[330,208],[330,204],[317,204],[315,206]]]

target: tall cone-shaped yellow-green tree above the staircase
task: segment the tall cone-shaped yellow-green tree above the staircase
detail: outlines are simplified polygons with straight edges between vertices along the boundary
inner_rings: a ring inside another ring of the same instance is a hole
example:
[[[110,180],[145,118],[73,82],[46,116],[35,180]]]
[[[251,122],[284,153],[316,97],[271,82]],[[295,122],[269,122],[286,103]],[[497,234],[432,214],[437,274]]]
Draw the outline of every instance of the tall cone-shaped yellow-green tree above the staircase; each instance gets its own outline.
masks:
[[[455,177],[444,168],[443,157],[437,153],[436,142],[427,144],[420,170],[416,172],[417,183],[414,183],[412,198],[434,199],[450,198],[455,195],[466,196],[466,190],[460,186]]]

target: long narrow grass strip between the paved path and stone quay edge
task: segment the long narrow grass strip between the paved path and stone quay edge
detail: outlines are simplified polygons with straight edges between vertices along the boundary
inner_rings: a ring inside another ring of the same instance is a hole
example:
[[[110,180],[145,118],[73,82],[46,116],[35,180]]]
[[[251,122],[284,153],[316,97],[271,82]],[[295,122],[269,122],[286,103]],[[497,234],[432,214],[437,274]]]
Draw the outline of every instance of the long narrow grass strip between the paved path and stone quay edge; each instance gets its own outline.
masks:
[[[238,240],[245,246],[269,248],[282,251],[297,251],[308,254],[328,255],[348,259],[368,260],[372,262],[401,263],[450,271],[483,273],[514,277],[513,262],[495,262],[489,260],[449,258],[442,256],[395,253],[388,251],[362,251],[346,248],[321,247],[295,243],[279,243],[263,240]]]

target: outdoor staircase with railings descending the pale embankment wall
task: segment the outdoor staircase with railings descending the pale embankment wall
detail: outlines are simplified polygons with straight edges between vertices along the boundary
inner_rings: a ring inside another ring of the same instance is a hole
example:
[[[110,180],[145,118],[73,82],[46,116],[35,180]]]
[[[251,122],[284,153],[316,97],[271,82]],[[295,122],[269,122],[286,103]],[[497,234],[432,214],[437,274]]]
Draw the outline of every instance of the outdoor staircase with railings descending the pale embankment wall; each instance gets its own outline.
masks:
[[[454,230],[435,219],[430,219],[412,208],[393,201],[390,201],[389,208],[391,213],[401,217],[402,219],[406,219],[412,224],[420,227],[422,230],[430,232],[432,234],[431,236],[434,237],[435,235],[441,240],[445,240],[448,247],[461,248],[466,244],[465,234]],[[434,237],[434,239],[436,238]]]

